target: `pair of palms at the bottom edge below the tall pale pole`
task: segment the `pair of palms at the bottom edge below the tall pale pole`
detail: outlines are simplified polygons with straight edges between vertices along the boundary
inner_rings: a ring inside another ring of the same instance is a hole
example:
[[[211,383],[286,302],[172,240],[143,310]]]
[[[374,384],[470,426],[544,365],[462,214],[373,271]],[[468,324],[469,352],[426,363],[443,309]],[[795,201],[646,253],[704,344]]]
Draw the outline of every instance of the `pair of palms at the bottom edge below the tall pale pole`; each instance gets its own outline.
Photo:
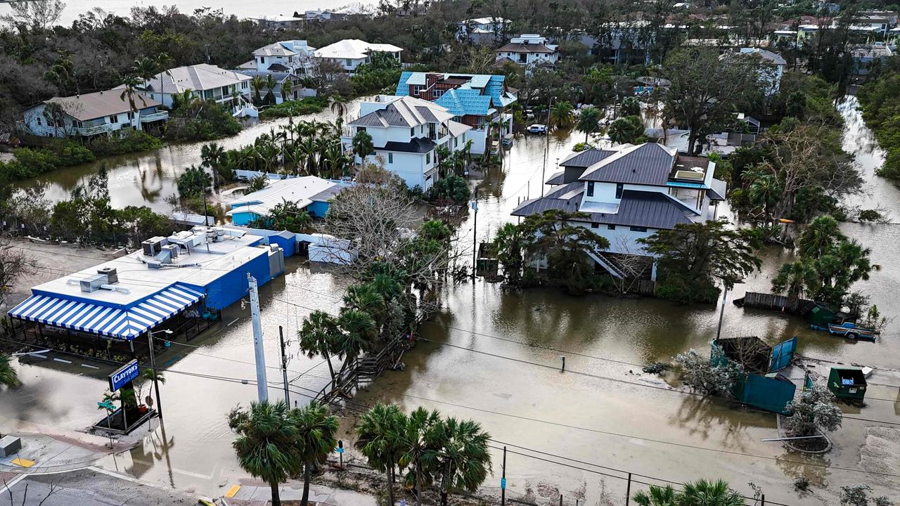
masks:
[[[313,471],[338,444],[338,417],[316,401],[293,409],[284,401],[252,402],[247,410],[230,411],[228,423],[238,435],[232,443],[238,464],[269,484],[273,506],[281,505],[278,485],[299,474],[305,506]]]

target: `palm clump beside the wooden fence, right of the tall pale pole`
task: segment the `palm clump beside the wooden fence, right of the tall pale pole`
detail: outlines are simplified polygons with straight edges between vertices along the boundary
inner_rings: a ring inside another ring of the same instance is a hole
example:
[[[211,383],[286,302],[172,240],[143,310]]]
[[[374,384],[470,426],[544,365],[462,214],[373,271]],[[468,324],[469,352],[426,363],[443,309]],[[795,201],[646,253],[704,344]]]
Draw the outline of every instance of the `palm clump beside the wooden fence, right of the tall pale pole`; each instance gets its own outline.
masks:
[[[307,357],[323,357],[329,364],[332,387],[338,375],[356,359],[372,351],[380,338],[394,339],[413,324],[415,297],[406,272],[386,263],[376,263],[364,281],[351,285],[337,316],[315,311],[298,331],[300,349]],[[335,373],[332,357],[343,360]]]

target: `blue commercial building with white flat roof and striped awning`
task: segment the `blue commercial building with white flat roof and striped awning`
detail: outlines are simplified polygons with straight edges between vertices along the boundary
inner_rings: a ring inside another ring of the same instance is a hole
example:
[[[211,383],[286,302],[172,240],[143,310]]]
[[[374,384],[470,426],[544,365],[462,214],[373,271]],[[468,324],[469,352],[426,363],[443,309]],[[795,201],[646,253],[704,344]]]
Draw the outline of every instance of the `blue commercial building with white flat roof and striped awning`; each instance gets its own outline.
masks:
[[[31,288],[9,311],[32,331],[132,341],[157,327],[199,332],[200,321],[284,273],[284,252],[241,230],[194,227],[142,249]],[[132,347],[133,350],[133,347]]]

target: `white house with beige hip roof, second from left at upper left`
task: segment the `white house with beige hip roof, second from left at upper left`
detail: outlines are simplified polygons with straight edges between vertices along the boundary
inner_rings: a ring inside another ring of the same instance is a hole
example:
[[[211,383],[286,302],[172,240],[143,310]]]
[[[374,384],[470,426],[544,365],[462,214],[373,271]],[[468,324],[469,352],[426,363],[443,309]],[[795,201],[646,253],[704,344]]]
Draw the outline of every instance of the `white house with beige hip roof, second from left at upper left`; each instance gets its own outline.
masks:
[[[144,95],[166,107],[172,107],[174,95],[182,95],[186,91],[202,100],[214,100],[222,105],[236,107],[246,102],[250,96],[250,77],[234,70],[201,63],[170,68],[138,88]]]

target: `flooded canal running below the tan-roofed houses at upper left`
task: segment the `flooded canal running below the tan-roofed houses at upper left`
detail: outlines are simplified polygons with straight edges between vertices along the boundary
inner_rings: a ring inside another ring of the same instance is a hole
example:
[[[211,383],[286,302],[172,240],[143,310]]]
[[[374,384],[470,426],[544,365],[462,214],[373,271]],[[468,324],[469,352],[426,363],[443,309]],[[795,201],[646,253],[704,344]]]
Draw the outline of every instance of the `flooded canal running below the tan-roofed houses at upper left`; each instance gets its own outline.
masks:
[[[356,117],[359,113],[359,102],[354,100],[347,104],[347,116]],[[312,121],[330,122],[337,118],[335,113],[326,107],[321,113],[295,116],[294,122]],[[261,134],[277,129],[290,122],[289,118],[271,121],[246,120],[244,130],[234,137],[202,142],[183,142],[166,144],[160,149],[130,153],[114,157],[106,157],[95,162],[76,167],[56,170],[40,177],[17,184],[20,188],[34,185],[46,185],[45,196],[50,202],[58,202],[68,198],[76,185],[84,185],[87,179],[96,174],[100,167],[106,167],[109,176],[110,201],[113,207],[127,205],[147,205],[156,212],[171,212],[166,197],[177,194],[178,176],[187,167],[201,164],[200,149],[204,144],[217,142],[224,149],[237,149],[252,144]]]

